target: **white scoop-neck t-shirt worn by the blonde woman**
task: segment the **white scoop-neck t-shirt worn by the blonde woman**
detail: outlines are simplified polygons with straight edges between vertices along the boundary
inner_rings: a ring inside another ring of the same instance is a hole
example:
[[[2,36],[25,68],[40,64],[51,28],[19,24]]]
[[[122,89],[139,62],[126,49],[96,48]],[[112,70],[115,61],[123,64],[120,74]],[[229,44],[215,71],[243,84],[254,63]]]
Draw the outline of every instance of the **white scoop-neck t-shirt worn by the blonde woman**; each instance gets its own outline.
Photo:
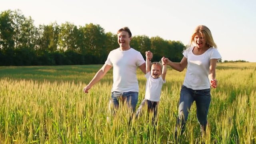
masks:
[[[220,53],[211,47],[201,55],[194,55],[193,48],[190,47],[183,52],[183,55],[188,59],[183,85],[193,90],[208,89],[210,88],[210,80],[208,78],[210,60],[221,58]]]

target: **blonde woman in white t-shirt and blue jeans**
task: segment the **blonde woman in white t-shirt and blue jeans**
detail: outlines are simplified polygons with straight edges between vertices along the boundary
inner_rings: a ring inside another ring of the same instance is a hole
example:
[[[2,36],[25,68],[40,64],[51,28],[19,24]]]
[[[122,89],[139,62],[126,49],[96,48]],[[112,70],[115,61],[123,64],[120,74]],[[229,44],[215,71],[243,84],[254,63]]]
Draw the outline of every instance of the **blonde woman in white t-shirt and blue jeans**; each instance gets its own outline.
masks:
[[[183,71],[187,67],[186,76],[180,90],[179,114],[176,124],[180,125],[181,134],[186,127],[186,120],[192,103],[196,102],[196,116],[200,124],[201,134],[206,131],[207,114],[211,102],[210,86],[217,87],[215,79],[216,63],[221,58],[212,34],[206,26],[197,26],[194,30],[189,47],[183,52],[180,63],[174,63],[163,57],[162,63],[174,70]]]

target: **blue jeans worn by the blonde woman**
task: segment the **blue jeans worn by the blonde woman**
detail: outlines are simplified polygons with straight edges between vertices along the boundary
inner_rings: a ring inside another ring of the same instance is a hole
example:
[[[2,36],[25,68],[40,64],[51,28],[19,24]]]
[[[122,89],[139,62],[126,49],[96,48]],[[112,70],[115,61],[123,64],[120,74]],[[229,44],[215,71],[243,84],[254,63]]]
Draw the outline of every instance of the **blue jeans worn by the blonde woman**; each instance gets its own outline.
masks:
[[[193,102],[196,101],[196,117],[200,124],[201,132],[205,132],[207,124],[207,114],[211,102],[210,88],[204,90],[192,90],[182,85],[180,90],[179,116],[177,126],[181,122],[181,132],[186,128],[186,120]]]

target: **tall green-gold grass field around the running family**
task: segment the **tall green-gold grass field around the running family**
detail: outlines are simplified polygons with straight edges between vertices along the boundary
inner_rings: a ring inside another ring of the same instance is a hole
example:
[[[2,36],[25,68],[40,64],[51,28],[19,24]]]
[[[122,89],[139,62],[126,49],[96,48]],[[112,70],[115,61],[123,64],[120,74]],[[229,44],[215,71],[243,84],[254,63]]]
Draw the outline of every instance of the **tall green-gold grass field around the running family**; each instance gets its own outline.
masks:
[[[168,67],[152,126],[144,109],[129,123],[130,113],[120,106],[108,113],[112,70],[88,94],[82,89],[100,65],[0,67],[0,143],[152,144],[200,143],[193,104],[185,134],[174,138],[177,104],[185,71]],[[218,64],[218,88],[212,89],[205,143],[256,143],[256,64]],[[139,101],[146,78],[138,70]],[[107,120],[107,116],[110,120]]]

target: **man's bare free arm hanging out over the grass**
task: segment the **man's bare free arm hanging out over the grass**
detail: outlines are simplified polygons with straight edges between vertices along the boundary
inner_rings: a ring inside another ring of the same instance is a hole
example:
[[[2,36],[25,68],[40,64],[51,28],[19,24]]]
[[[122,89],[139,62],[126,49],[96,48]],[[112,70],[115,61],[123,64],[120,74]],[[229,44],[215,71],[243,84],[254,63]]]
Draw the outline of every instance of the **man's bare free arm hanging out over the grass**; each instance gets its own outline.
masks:
[[[102,77],[110,70],[110,68],[112,68],[112,66],[108,65],[108,64],[104,64],[102,66],[102,68],[100,68],[100,70],[95,74],[94,78],[92,78],[92,80],[89,82],[89,84],[84,87],[84,92],[88,93],[88,90],[96,83],[98,82],[100,79],[102,79]]]

